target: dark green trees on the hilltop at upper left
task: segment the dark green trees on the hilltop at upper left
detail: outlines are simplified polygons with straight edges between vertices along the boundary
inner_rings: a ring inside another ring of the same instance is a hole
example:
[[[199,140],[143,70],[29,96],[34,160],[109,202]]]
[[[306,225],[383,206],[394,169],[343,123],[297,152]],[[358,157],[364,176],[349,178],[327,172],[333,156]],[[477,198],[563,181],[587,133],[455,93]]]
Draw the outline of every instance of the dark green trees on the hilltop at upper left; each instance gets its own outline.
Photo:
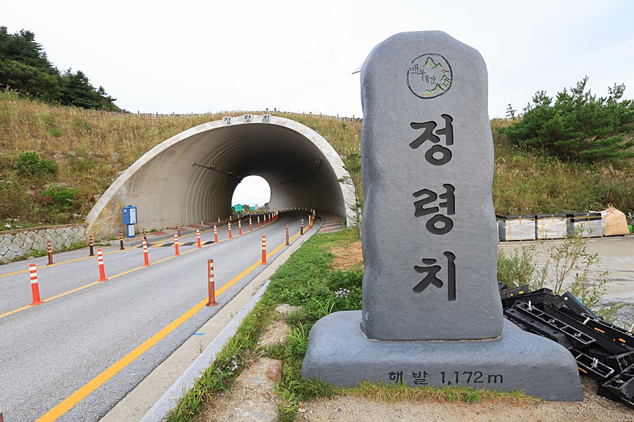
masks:
[[[35,41],[35,34],[9,34],[0,26],[0,89],[11,89],[48,103],[93,110],[122,111],[104,87],[95,88],[81,70],[60,72]]]

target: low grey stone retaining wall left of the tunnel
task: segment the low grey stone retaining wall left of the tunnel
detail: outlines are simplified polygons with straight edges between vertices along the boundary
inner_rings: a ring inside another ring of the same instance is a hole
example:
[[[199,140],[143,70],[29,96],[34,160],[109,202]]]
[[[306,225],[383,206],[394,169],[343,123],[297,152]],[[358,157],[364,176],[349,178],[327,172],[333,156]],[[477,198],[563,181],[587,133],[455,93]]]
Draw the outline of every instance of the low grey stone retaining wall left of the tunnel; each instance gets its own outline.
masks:
[[[54,251],[69,248],[71,243],[87,243],[87,224],[72,226],[46,226],[0,232],[0,262],[15,257],[26,257],[34,250],[46,250],[51,241]]]

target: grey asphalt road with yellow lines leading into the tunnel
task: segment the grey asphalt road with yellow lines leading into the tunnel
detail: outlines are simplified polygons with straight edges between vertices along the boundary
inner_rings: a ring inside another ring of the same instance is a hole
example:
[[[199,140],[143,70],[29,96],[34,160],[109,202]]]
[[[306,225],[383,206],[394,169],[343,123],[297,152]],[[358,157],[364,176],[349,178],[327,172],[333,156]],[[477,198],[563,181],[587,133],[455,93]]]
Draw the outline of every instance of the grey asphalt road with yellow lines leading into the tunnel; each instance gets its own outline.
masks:
[[[242,236],[236,236],[235,226],[231,239],[227,239],[227,229],[219,229],[218,243],[201,249],[195,244],[181,245],[178,257],[173,256],[173,247],[149,248],[150,267],[142,267],[142,248],[119,251],[118,245],[104,247],[108,281],[101,283],[95,283],[99,280],[97,257],[87,258],[87,249],[56,254],[56,264],[51,266],[42,257],[0,267],[0,405],[4,420],[32,422],[55,408],[56,413],[42,421],[99,421],[264,268],[256,266],[220,293],[218,307],[202,307],[149,350],[130,358],[130,364],[111,369],[205,300],[207,260],[213,259],[219,290],[261,262],[261,236],[266,236],[271,253],[285,243],[286,224],[291,237],[299,233],[302,217],[306,216],[282,214],[278,221],[252,232],[246,224]],[[201,240],[213,241],[213,230],[201,234]],[[195,243],[196,236],[180,241]],[[25,271],[32,262],[37,264],[45,303],[7,314],[32,302]],[[82,286],[88,287],[62,295]],[[61,296],[54,298],[56,295]],[[99,377],[106,370],[113,376]],[[95,378],[107,381],[89,392],[97,385]],[[58,404],[68,402],[69,397],[70,403],[59,409]]]

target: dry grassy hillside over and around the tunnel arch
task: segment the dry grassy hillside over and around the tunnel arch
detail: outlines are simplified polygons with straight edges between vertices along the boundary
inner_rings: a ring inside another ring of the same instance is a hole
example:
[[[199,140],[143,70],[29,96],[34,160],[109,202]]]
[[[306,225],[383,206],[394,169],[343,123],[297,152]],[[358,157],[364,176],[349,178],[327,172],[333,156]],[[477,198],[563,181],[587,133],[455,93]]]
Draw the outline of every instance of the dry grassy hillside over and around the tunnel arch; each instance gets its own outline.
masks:
[[[49,106],[0,91],[0,225],[82,222],[118,175],[175,134],[223,115],[137,116]],[[344,157],[359,153],[360,122],[319,115],[272,113],[297,120],[325,137]],[[495,210],[500,214],[598,210],[634,211],[632,160],[568,165],[510,146],[492,121]],[[39,155],[25,155],[35,151]],[[360,188],[360,186],[357,186]]]

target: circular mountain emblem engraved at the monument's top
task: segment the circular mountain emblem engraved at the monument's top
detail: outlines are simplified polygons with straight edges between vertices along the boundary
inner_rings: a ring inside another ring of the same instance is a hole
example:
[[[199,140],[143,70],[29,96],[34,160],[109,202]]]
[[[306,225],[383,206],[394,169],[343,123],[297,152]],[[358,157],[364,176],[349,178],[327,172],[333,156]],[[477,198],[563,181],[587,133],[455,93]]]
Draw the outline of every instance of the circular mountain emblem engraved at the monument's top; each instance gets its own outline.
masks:
[[[440,54],[423,54],[407,70],[407,86],[418,98],[434,98],[452,86],[452,67]]]

